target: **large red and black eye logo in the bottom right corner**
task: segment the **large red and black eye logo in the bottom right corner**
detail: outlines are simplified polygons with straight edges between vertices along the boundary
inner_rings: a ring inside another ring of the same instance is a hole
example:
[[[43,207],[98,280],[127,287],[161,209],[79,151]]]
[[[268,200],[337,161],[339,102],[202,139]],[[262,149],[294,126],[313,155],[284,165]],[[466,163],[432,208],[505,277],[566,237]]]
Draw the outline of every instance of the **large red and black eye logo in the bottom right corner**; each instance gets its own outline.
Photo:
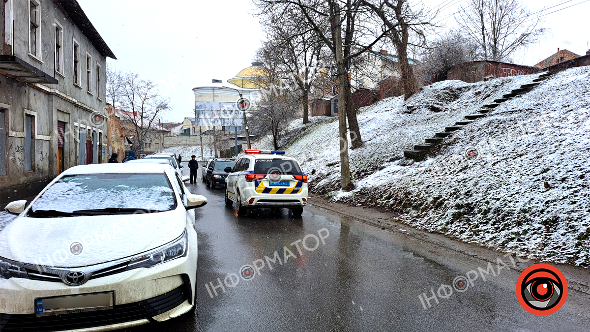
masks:
[[[568,282],[555,266],[535,264],[520,274],[516,297],[529,313],[550,315],[558,311],[568,297]]]

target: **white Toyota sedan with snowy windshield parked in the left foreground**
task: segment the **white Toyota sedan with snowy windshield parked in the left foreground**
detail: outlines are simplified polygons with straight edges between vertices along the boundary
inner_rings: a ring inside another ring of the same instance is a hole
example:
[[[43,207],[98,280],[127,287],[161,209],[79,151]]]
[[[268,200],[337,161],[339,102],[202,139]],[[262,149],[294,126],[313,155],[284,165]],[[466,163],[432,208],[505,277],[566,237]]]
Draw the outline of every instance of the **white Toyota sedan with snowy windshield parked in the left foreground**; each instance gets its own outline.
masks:
[[[190,194],[164,164],[70,168],[0,229],[1,331],[107,331],[195,308]]]

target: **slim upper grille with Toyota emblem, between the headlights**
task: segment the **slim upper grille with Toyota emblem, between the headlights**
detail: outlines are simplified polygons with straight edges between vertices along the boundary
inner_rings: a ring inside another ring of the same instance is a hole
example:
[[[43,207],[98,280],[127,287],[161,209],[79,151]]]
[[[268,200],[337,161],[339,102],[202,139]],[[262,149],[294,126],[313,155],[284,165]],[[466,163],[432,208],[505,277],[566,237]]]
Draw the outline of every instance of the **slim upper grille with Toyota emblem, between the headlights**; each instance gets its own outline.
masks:
[[[127,258],[119,261],[84,266],[81,268],[53,268],[49,266],[25,264],[25,270],[27,271],[29,279],[32,280],[63,282],[62,276],[68,274],[70,271],[82,271],[90,275],[90,280],[123,272],[127,268],[129,261],[130,259]]]

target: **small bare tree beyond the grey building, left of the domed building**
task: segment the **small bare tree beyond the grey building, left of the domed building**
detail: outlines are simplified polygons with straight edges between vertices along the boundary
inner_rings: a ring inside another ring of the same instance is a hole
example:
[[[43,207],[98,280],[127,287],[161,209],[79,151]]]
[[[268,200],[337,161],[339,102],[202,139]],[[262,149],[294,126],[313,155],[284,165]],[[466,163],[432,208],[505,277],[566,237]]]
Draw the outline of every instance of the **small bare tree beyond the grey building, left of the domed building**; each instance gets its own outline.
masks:
[[[137,73],[122,75],[120,112],[121,124],[126,132],[133,135],[133,150],[142,151],[149,138],[159,134],[158,123],[168,111],[169,100],[158,92],[157,85],[144,80]]]

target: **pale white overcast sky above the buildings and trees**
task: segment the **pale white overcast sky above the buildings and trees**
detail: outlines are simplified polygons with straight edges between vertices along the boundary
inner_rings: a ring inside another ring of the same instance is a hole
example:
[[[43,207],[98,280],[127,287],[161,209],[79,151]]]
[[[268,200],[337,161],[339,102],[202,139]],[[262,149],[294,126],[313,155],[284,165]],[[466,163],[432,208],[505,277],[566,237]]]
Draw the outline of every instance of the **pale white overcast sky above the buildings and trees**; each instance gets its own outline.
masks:
[[[549,14],[542,27],[549,33],[536,45],[514,56],[514,61],[533,66],[557,48],[586,54],[590,1],[523,0],[531,12],[562,4],[545,13],[566,6],[572,8]],[[146,79],[158,82],[160,90],[171,99],[172,110],[164,118],[181,121],[194,109],[192,88],[211,83],[211,79],[234,77],[250,66],[255,51],[264,39],[248,0],[78,0],[118,60],[111,66],[137,71]],[[567,2],[567,3],[565,3]],[[457,12],[466,0],[425,0],[432,8],[440,4],[439,17]],[[455,27],[453,15],[444,20]],[[389,50],[391,52],[391,50]]]

